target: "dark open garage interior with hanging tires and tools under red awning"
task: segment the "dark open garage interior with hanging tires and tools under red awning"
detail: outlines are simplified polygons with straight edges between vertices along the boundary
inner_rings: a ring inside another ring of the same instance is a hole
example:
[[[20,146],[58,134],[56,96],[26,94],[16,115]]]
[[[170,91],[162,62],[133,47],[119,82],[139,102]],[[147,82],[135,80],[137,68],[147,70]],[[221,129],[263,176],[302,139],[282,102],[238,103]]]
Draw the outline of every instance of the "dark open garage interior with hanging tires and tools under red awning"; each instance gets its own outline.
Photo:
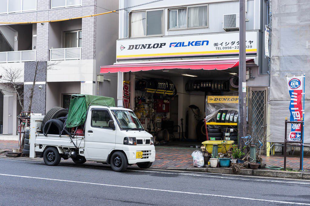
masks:
[[[131,95],[134,107],[130,107],[134,108],[144,129],[153,134],[156,145],[197,147],[207,140],[203,122],[209,115],[206,96],[238,96],[238,87],[231,84],[237,74],[238,67],[160,69],[126,72],[124,80],[135,79],[135,84],[130,85],[135,87],[131,88],[135,92],[134,97]]]

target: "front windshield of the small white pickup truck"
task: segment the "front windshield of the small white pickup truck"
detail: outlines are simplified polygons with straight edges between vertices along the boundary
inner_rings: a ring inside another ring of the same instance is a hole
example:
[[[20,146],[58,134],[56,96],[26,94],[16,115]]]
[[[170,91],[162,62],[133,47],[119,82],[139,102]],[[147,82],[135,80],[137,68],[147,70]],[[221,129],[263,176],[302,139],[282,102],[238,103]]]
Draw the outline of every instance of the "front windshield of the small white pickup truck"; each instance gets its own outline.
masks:
[[[135,113],[127,110],[112,110],[117,123],[123,130],[143,129],[140,121],[135,116]]]

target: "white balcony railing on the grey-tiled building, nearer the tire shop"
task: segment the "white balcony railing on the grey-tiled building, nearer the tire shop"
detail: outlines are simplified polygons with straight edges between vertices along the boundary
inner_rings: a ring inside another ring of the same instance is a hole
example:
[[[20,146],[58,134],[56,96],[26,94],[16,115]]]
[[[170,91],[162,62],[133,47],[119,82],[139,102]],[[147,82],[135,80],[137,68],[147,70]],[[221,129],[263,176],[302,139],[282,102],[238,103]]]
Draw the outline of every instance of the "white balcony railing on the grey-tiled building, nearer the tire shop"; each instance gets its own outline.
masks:
[[[81,59],[82,48],[52,48],[50,49],[50,60]]]

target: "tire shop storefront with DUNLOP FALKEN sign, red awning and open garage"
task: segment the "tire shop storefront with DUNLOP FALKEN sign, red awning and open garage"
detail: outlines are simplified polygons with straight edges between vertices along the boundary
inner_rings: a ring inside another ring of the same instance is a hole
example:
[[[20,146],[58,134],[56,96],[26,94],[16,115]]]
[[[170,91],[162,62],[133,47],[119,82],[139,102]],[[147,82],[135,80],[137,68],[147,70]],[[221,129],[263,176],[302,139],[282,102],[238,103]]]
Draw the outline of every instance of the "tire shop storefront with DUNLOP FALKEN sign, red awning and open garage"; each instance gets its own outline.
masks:
[[[201,145],[207,96],[238,97],[238,40],[238,32],[117,40],[116,63],[101,74],[118,73],[117,106],[133,109],[157,144]],[[246,40],[246,64],[257,66],[258,32]],[[212,140],[223,138],[216,131]]]

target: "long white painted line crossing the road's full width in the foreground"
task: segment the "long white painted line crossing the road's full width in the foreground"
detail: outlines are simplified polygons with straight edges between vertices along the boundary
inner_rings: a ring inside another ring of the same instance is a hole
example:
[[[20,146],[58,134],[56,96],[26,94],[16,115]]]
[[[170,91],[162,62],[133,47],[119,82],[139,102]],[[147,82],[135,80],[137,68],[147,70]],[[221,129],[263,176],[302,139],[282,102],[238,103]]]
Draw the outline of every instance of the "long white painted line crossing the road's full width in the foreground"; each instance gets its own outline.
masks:
[[[213,195],[213,194],[205,194],[205,193],[197,193],[197,192],[184,192],[184,191],[162,190],[162,189],[153,189],[153,188],[145,188],[145,187],[131,187],[131,186],[122,186],[122,185],[110,185],[110,184],[90,183],[90,182],[81,182],[81,181],[64,180],[64,179],[50,179],[50,178],[42,178],[42,177],[21,176],[21,175],[13,175],[13,174],[0,174],[0,175],[2,175],[2,176],[11,176],[11,177],[31,178],[31,179],[43,179],[43,180],[51,180],[51,181],[59,181],[59,182],[69,182],[69,183],[82,183],[82,184],[91,184],[91,185],[101,185],[101,186],[108,186],[108,187],[122,187],[122,188],[131,188],[131,189],[140,189],[140,190],[151,190],[151,191],[181,193],[181,194],[189,194],[189,195],[203,195],[203,196],[224,197],[224,198],[242,199],[242,200],[254,200],[254,201],[261,201],[261,202],[275,202],[275,203],[284,203],[284,204],[310,205],[310,204],[307,204],[307,203],[299,203],[299,202],[286,202],[286,201],[278,201],[278,200],[264,200],[264,199],[247,198],[247,197],[235,197],[235,196],[228,196],[228,195]]]

